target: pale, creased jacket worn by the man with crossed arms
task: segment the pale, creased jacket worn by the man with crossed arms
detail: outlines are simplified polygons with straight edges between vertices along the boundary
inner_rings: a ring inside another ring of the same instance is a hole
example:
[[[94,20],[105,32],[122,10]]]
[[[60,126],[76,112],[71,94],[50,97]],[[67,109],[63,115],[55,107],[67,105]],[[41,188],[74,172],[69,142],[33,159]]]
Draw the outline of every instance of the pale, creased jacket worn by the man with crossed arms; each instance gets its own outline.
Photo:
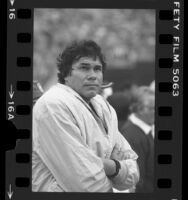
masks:
[[[57,83],[35,104],[33,191],[109,192],[138,182],[137,155],[119,133],[114,109],[100,95],[91,103],[96,113],[73,89]],[[110,180],[101,158],[110,158],[116,143],[129,159],[121,161],[119,174]]]

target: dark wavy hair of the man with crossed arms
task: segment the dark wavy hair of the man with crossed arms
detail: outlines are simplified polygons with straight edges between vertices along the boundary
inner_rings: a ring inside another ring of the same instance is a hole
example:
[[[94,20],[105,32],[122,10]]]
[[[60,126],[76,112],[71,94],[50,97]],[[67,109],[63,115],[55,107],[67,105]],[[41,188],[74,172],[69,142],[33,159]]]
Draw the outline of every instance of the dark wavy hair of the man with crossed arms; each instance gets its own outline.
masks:
[[[72,64],[81,57],[99,58],[104,72],[106,62],[101,48],[92,40],[74,41],[57,58],[58,81],[60,83],[65,83],[64,78],[71,72]]]

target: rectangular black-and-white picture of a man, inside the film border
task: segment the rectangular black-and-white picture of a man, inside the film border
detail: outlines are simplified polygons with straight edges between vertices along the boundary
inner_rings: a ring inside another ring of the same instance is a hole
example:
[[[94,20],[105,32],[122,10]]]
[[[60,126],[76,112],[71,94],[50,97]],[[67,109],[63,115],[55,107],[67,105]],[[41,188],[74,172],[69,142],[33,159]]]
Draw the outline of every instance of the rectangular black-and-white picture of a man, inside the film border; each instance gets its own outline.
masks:
[[[154,191],[154,9],[35,8],[32,192]]]

